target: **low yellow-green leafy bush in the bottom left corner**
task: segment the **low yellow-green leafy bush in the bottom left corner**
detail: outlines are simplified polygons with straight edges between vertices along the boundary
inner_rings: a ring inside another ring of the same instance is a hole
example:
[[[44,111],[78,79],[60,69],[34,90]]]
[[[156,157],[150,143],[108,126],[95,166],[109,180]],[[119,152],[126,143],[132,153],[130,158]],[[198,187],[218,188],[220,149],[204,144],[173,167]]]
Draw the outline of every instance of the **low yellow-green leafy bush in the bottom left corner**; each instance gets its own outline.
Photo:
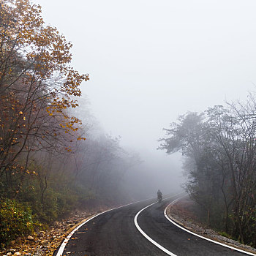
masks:
[[[1,247],[18,236],[33,233],[32,211],[29,206],[16,200],[0,200],[0,241]]]

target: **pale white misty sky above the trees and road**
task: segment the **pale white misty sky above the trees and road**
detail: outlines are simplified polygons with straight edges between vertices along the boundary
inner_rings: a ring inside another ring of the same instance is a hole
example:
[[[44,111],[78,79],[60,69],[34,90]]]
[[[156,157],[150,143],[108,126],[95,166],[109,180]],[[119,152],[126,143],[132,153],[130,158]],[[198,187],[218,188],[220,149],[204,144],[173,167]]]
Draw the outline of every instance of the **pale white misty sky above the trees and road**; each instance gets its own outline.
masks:
[[[156,151],[178,115],[255,89],[255,0],[33,2],[73,43],[94,116],[154,169],[180,168]]]

